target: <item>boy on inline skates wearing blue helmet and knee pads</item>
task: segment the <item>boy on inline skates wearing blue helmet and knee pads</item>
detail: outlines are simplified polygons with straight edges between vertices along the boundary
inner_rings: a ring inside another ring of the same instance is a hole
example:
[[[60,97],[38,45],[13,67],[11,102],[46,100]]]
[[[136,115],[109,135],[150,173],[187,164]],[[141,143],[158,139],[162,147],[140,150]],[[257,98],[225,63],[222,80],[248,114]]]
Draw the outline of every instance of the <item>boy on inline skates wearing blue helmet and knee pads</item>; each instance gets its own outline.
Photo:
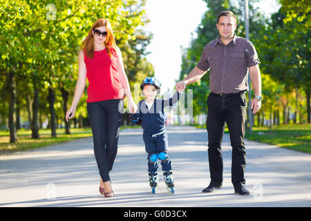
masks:
[[[160,82],[154,77],[147,77],[140,84],[140,89],[145,99],[138,104],[138,110],[131,115],[133,121],[142,120],[144,129],[143,139],[148,153],[148,174],[152,193],[156,193],[158,186],[158,160],[161,161],[164,182],[167,191],[174,193],[171,160],[167,154],[167,133],[165,128],[164,107],[173,106],[180,99],[180,93],[176,92],[169,99],[156,98],[160,94]]]

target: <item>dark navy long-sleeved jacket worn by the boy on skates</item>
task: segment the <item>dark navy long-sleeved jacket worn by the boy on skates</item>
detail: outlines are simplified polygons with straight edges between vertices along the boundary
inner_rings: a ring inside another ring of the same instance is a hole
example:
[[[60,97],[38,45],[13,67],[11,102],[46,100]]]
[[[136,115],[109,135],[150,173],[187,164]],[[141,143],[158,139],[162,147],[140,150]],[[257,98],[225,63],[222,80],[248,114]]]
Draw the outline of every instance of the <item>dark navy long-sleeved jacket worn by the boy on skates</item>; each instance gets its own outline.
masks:
[[[145,100],[143,99],[138,103],[138,110],[136,113],[131,115],[131,119],[133,119],[133,121],[141,119],[144,132],[151,135],[160,133],[165,130],[164,107],[176,104],[180,99],[180,96],[181,94],[176,92],[169,99],[156,98],[150,108],[150,111]]]

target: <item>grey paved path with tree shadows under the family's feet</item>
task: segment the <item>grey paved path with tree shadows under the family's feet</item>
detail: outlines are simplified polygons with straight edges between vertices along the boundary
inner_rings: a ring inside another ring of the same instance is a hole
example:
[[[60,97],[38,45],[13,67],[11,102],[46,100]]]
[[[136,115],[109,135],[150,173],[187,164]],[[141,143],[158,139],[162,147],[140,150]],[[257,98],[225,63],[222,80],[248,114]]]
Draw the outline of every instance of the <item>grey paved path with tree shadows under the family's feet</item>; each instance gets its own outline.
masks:
[[[115,198],[98,192],[93,140],[0,156],[0,206],[311,206],[311,155],[246,141],[248,196],[234,194],[229,135],[224,135],[223,189],[209,184],[207,133],[191,126],[168,128],[176,193],[150,192],[141,129],[124,129],[111,180]]]

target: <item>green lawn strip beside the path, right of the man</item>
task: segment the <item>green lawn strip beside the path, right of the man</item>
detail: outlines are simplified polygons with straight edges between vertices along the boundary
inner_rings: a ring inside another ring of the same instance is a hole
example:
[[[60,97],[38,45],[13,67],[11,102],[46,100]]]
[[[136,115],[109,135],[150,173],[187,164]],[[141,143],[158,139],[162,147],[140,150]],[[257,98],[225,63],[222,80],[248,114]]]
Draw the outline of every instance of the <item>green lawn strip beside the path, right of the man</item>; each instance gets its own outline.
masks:
[[[206,128],[205,125],[196,125],[197,128]],[[229,133],[226,126],[225,133]],[[245,131],[245,138],[265,144],[273,144],[294,151],[311,153],[311,125],[288,124],[273,126],[272,128],[253,127],[253,133]]]

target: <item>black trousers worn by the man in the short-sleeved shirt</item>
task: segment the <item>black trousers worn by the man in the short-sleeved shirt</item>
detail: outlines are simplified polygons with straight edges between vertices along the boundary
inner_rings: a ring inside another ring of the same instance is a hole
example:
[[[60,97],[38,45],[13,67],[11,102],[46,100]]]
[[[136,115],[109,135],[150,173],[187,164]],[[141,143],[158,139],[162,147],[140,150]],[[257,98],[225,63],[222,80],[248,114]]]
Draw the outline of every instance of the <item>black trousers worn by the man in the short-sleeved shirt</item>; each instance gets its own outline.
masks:
[[[225,131],[225,122],[227,122],[232,146],[232,184],[237,188],[245,184],[246,150],[244,135],[247,106],[245,94],[219,97],[211,93],[207,97],[207,106],[208,155],[211,181],[216,184],[223,182],[221,142]]]

